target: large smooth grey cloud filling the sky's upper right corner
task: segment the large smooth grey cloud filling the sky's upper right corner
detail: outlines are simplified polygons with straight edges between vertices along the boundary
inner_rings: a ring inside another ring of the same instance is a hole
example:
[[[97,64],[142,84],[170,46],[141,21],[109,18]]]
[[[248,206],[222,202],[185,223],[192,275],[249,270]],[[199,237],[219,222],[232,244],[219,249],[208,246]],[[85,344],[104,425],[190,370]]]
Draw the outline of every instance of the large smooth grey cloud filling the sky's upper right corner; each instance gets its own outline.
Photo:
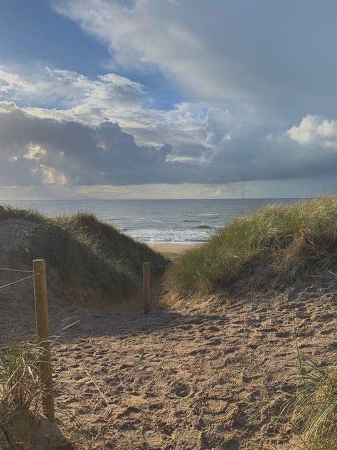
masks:
[[[127,68],[159,68],[197,100],[264,120],[336,115],[336,1],[55,0]],[[224,105],[221,105],[222,107]],[[272,114],[271,114],[272,113]]]

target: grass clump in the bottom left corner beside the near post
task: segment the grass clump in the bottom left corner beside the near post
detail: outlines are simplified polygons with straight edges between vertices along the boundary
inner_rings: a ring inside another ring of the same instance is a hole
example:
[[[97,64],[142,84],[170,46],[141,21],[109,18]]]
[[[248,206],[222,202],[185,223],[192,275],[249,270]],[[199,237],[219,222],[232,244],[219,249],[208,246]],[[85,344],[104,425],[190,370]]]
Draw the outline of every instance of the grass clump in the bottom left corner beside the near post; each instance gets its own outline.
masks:
[[[41,357],[43,347],[35,335],[21,340],[14,332],[7,345],[0,347],[1,449],[75,448],[58,425],[43,416]],[[61,414],[69,417],[69,412],[58,411],[58,417]]]

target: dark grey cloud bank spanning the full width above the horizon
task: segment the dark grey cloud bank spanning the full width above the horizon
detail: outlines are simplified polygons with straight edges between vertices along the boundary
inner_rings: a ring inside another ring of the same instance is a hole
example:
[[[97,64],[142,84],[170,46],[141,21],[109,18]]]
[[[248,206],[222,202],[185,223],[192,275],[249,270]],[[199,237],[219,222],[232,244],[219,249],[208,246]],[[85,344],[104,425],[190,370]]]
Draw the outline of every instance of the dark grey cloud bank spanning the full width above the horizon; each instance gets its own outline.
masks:
[[[307,116],[280,134],[241,123],[227,110],[210,110],[206,122],[210,145],[177,153],[171,142],[137,145],[117,123],[34,117],[0,103],[1,184],[209,185],[336,174],[336,121]]]

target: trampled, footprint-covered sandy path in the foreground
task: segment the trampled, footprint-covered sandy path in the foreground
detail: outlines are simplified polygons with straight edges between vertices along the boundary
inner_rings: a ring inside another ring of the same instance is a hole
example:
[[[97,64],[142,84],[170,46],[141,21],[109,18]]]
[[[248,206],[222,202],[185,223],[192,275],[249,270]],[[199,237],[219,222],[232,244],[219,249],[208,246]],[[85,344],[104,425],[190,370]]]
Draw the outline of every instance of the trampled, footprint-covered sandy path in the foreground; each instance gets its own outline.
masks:
[[[296,362],[293,327],[301,352],[328,361],[334,308],[333,281],[147,316],[137,302],[131,314],[73,308],[80,322],[53,349],[58,404],[87,430],[83,449],[285,443],[273,416],[289,391],[285,367]]]

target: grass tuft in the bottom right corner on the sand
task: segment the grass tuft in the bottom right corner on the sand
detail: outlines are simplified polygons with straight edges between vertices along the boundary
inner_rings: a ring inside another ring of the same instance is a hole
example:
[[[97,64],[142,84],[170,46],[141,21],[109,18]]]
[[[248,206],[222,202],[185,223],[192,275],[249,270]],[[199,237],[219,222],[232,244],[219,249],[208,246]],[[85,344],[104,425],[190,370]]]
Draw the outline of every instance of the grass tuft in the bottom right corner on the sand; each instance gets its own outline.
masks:
[[[300,384],[285,407],[307,450],[337,449],[337,364],[301,362]]]

